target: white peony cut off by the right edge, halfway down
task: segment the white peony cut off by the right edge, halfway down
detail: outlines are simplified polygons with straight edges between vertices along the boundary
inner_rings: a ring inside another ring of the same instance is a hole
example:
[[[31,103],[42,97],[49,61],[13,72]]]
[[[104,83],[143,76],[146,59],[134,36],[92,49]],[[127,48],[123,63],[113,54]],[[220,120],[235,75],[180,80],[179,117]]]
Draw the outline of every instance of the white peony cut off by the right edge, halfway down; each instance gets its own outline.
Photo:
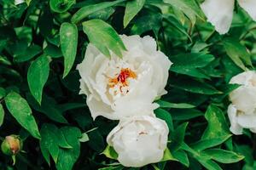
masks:
[[[230,93],[230,131],[241,134],[242,128],[249,128],[256,133],[256,71],[242,72],[233,77],[230,83],[241,84],[241,87]]]

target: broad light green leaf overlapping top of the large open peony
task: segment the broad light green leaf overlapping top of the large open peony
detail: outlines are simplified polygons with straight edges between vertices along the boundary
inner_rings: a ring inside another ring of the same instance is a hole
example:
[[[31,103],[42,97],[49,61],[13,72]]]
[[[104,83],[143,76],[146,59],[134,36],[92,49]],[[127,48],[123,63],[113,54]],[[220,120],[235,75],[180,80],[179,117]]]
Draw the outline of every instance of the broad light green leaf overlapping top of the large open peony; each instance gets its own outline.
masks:
[[[113,27],[103,20],[89,20],[83,22],[83,30],[87,34],[90,42],[98,48],[102,54],[110,57],[109,50],[122,57],[122,50],[125,44]]]

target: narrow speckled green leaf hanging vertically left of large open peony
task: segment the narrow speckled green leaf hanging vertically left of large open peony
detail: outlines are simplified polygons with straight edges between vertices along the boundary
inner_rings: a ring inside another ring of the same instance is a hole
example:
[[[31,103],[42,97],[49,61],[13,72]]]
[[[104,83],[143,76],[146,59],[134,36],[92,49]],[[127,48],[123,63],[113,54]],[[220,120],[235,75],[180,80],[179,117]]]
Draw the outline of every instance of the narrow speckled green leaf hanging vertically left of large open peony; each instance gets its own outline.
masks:
[[[76,25],[67,22],[61,24],[60,41],[61,51],[64,56],[63,78],[67,76],[73,66],[77,54],[78,38],[79,31]]]

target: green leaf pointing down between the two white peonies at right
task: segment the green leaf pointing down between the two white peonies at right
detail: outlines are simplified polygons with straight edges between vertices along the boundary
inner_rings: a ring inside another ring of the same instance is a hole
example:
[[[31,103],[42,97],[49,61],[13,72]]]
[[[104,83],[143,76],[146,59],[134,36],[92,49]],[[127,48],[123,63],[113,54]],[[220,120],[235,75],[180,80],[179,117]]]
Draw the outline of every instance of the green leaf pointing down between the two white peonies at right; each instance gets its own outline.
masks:
[[[236,63],[242,70],[246,71],[246,65],[252,65],[252,61],[250,58],[250,54],[248,54],[247,49],[241,45],[234,38],[225,38],[223,41],[224,49],[226,53],[229,55],[230,59]],[[243,63],[244,61],[244,63]]]

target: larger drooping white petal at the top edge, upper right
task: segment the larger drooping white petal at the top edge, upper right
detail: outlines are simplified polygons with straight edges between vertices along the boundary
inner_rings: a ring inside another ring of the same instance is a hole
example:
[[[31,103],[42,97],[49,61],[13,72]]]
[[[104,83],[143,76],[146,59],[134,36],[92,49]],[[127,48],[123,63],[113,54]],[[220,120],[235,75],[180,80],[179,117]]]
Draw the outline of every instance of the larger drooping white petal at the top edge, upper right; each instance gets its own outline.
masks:
[[[224,34],[230,30],[234,5],[235,0],[206,0],[201,3],[201,9],[215,30]]]

